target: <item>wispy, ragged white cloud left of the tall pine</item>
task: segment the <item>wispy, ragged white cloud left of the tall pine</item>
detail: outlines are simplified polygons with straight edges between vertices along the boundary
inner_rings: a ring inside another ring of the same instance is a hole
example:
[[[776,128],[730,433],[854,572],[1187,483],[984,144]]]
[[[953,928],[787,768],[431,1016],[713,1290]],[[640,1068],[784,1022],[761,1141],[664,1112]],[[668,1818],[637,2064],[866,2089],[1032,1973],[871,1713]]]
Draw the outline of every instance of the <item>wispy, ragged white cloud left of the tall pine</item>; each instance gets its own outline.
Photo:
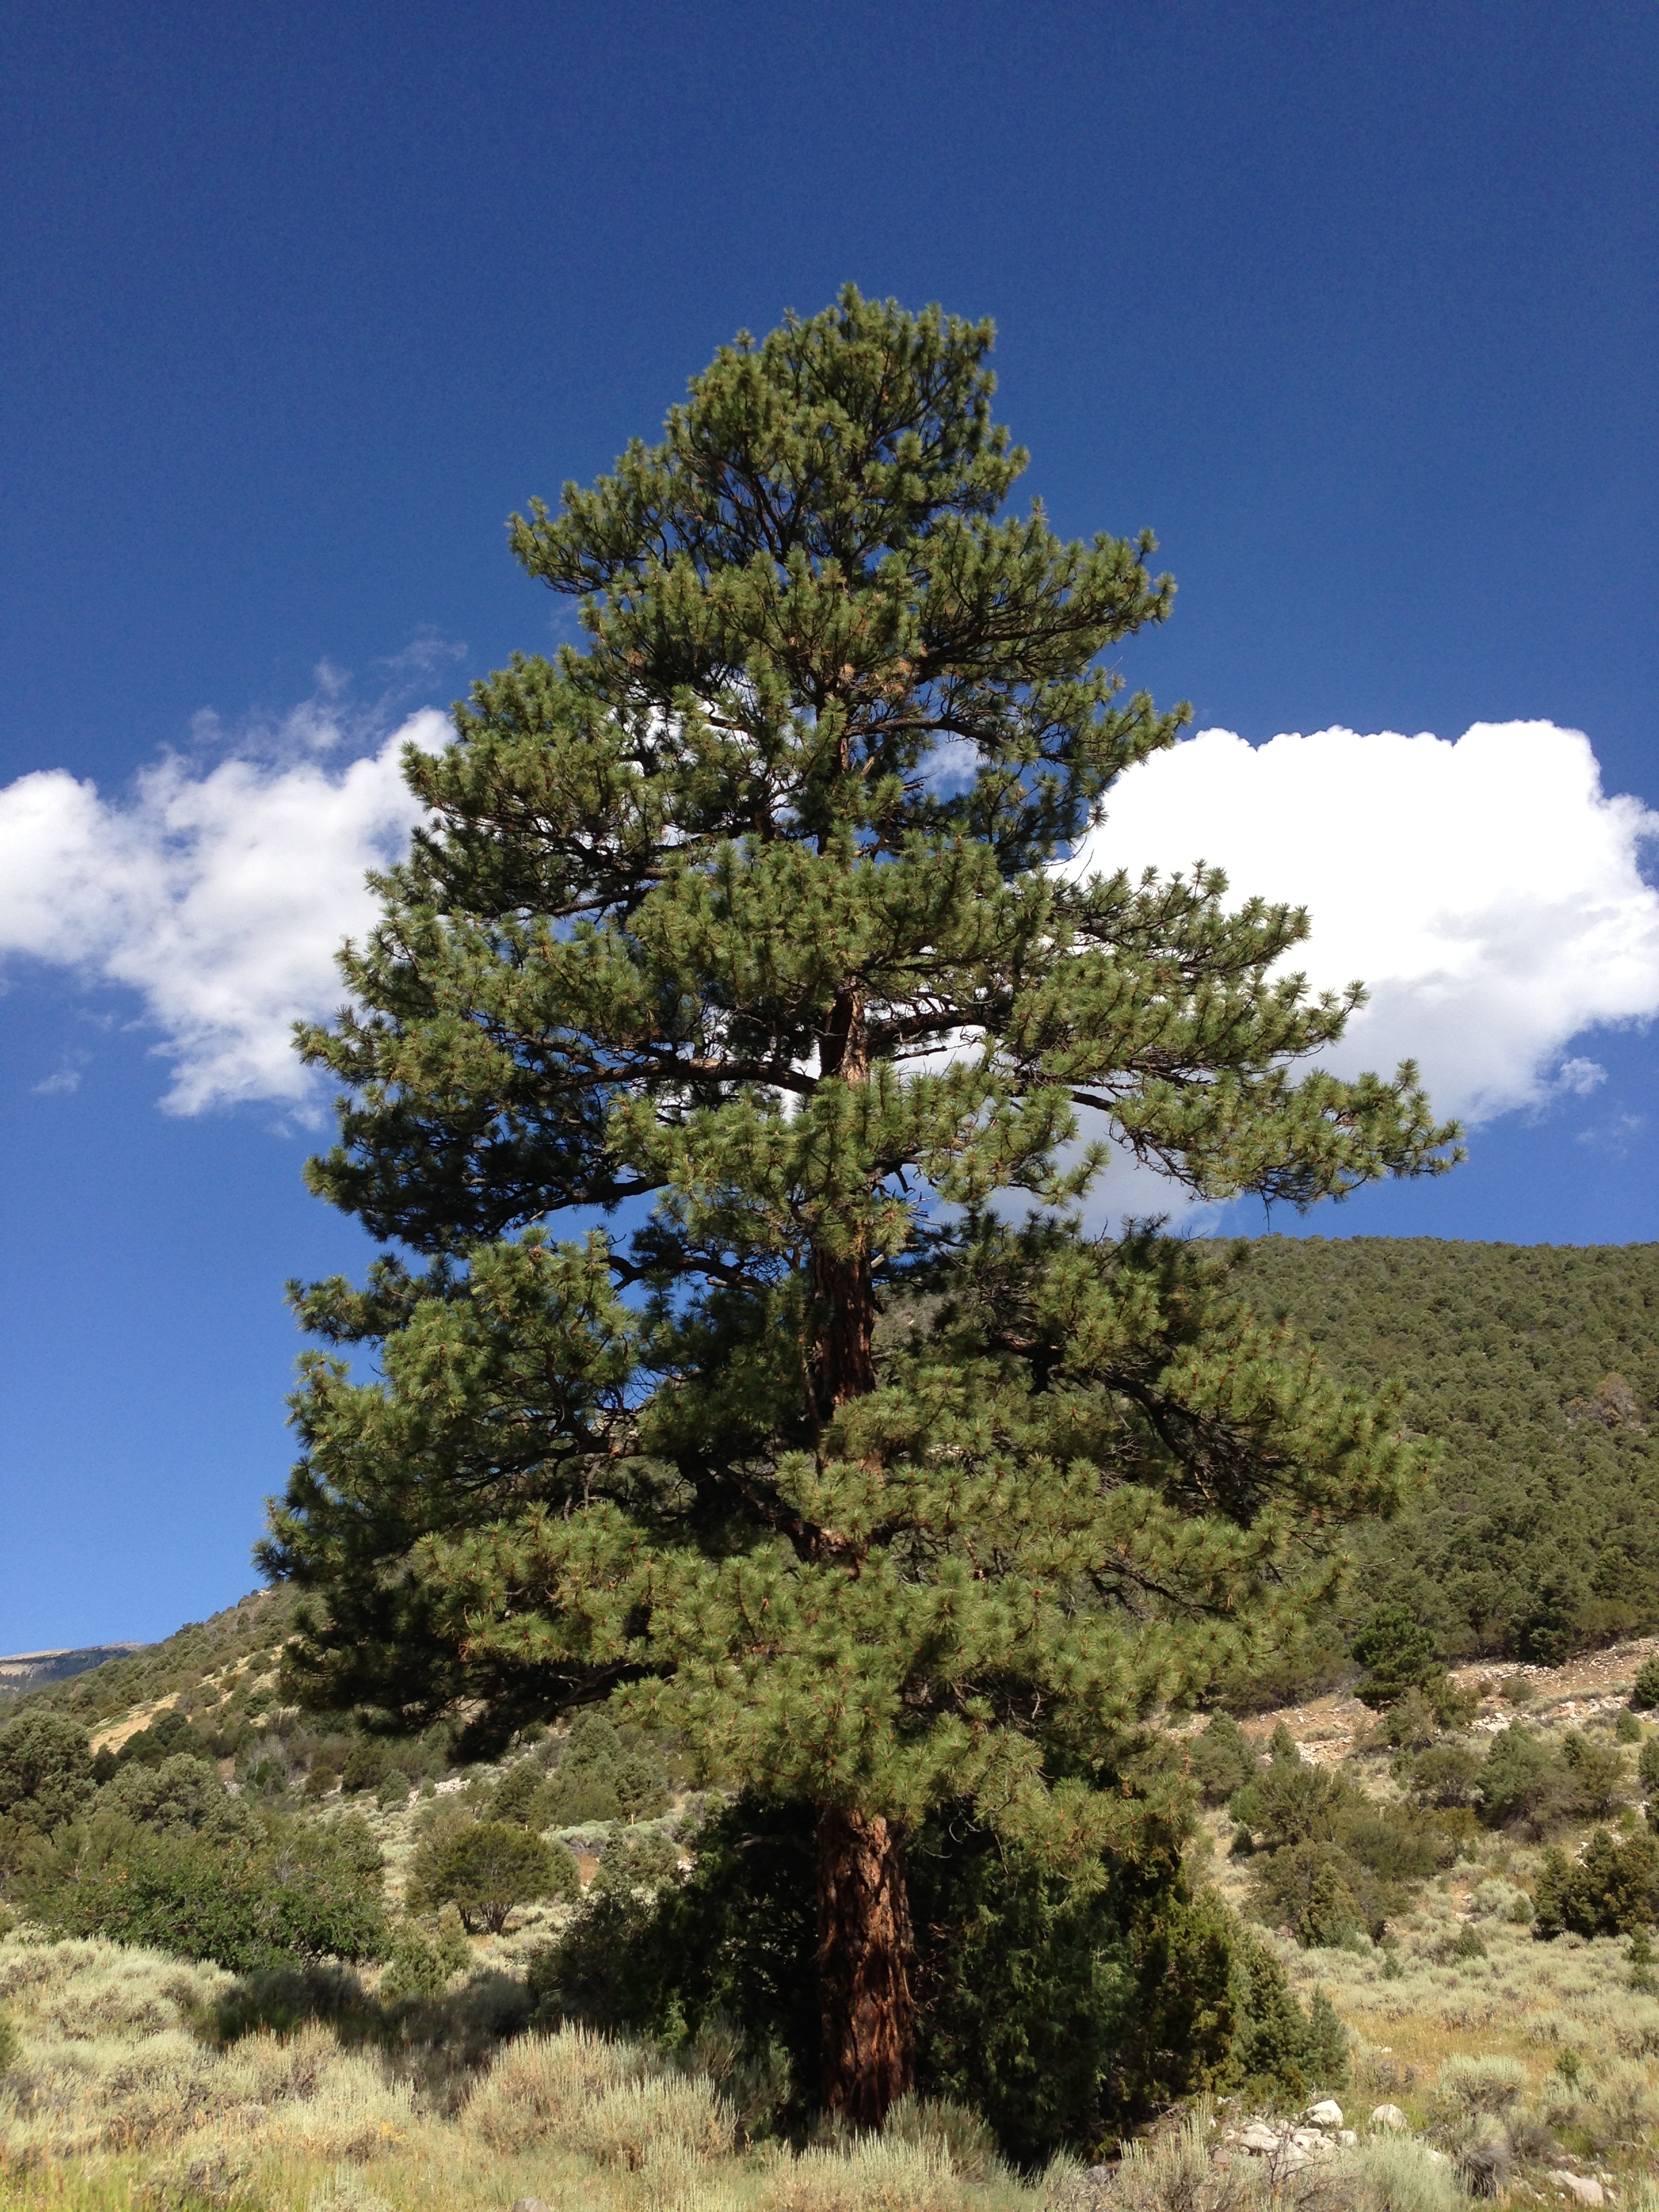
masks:
[[[137,991],[175,1113],[305,1104],[290,1024],[338,1004],[334,953],[376,911],[365,869],[407,847],[420,812],[398,752],[445,734],[420,712],[341,768],[292,750],[210,770],[166,759],[117,801],[64,770],[20,776],[0,790],[0,956]]]

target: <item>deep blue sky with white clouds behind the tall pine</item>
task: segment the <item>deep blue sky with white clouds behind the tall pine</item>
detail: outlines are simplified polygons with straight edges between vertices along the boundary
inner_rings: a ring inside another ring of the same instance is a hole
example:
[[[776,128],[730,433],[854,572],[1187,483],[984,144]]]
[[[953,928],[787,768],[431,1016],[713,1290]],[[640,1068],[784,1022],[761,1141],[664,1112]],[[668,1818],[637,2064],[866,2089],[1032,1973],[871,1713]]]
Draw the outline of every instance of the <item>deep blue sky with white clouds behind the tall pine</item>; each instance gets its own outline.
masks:
[[[1197,730],[1442,741],[1250,754],[1234,807],[1206,741],[1124,812],[1347,898],[1369,971],[1469,856],[1369,1040],[1422,1020],[1471,1161],[1305,1225],[1659,1234],[1648,4],[62,0],[0,148],[2,1650],[248,1586],[281,1283],[365,1256],[272,1073],[290,878],[389,849],[389,732],[553,639],[509,509],[845,279],[998,319],[1026,489],[1159,531],[1124,666]]]

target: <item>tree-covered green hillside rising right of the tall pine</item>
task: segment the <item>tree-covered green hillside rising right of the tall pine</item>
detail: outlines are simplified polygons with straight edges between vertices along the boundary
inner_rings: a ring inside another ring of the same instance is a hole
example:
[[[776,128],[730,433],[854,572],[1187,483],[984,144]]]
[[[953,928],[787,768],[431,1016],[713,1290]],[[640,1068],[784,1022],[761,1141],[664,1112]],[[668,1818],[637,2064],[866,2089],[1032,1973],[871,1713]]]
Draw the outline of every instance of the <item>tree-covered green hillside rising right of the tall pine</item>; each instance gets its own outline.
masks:
[[[1338,1632],[1405,1599],[1444,1657],[1548,1663],[1659,1626],[1659,1245],[1261,1237],[1239,1283],[1440,1444]]]

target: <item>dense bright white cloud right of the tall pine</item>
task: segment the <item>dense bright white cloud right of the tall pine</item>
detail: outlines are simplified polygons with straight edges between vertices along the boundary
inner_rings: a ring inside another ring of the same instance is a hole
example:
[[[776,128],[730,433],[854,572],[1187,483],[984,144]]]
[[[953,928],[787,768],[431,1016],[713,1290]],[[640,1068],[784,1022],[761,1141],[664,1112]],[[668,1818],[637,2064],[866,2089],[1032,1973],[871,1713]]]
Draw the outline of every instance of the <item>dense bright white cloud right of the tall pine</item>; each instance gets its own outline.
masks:
[[[1318,730],[1245,745],[1230,730],[1130,770],[1077,865],[1228,872],[1230,898],[1307,907],[1292,956],[1318,989],[1371,1002],[1332,1064],[1422,1064],[1471,1121],[1588,1095],[1562,1060],[1601,1024],[1659,1013],[1659,891],[1641,849],[1659,814],[1601,790],[1590,741],[1546,721],[1475,723],[1455,743]]]

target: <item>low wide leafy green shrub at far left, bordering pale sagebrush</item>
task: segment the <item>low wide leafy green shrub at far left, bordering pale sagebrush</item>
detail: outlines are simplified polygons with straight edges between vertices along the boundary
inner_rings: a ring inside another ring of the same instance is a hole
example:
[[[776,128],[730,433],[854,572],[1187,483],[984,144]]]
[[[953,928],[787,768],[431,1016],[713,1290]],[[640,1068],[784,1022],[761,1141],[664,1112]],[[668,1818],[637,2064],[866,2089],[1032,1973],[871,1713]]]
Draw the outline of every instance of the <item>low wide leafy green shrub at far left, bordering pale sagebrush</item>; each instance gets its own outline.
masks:
[[[31,1909],[246,1973],[288,1958],[380,1958],[380,1854],[367,1832],[265,1816],[252,1834],[146,1829],[100,1814],[31,1876]]]

